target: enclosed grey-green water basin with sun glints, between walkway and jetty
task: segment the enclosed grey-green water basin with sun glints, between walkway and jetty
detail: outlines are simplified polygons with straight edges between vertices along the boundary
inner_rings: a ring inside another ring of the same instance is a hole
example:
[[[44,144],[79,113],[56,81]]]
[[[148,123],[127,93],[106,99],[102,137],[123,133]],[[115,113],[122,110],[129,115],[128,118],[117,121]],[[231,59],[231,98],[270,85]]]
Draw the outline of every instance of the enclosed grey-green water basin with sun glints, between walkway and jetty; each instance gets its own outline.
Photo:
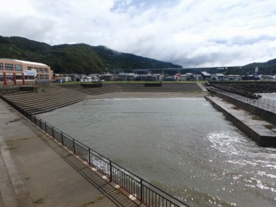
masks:
[[[190,206],[276,206],[276,149],[204,98],[91,99],[39,117]]]

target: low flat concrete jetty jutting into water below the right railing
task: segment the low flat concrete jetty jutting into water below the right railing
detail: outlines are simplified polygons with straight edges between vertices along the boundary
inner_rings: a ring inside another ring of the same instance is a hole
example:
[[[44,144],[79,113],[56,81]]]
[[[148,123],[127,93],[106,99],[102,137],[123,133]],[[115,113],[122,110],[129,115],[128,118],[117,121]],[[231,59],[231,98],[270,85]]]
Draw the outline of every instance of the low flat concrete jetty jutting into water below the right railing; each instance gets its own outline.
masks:
[[[219,97],[205,96],[205,98],[233,121],[248,137],[254,139],[259,146],[276,146],[276,126],[264,119],[252,115],[250,112],[238,108]]]

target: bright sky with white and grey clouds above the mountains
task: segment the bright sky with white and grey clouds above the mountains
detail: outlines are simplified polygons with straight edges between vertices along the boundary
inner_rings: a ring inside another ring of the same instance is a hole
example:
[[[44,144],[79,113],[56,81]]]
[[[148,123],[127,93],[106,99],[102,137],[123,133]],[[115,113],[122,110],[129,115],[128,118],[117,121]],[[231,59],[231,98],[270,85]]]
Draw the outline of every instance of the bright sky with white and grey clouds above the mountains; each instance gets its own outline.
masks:
[[[0,35],[106,46],[184,68],[276,58],[275,0],[0,0]]]

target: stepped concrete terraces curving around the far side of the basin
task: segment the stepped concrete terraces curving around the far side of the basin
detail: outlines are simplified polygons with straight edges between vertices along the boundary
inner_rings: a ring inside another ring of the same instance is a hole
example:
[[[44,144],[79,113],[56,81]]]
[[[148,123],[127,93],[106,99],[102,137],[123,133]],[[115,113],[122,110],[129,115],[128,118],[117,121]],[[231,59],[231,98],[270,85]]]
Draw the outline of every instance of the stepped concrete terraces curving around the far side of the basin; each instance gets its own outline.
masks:
[[[205,88],[199,83],[164,83],[162,87],[145,87],[144,83],[108,83],[101,88],[83,88],[79,84],[52,85],[41,92],[16,92],[3,95],[14,105],[37,115],[62,108],[90,95],[103,95],[114,92],[202,92]]]

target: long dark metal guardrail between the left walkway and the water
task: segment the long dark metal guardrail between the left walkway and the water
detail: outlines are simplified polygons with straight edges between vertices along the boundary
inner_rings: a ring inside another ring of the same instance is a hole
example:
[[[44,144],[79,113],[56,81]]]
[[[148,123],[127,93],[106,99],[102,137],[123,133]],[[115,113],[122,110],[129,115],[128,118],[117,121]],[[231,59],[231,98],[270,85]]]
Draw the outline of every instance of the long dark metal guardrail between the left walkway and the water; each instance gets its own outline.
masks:
[[[52,136],[53,139],[56,139],[63,146],[66,146],[68,150],[71,150],[75,153],[75,155],[81,157],[81,159],[86,161],[90,166],[93,166],[99,170],[99,172],[108,177],[110,181],[118,184],[121,186],[121,188],[124,188],[124,190],[130,193],[130,195],[139,199],[141,204],[145,204],[146,206],[166,207],[188,206],[188,204],[184,204],[183,201],[172,197],[157,186],[153,186],[148,181],[141,179],[141,177],[138,177],[122,166],[119,166],[119,164],[116,164],[95,150],[92,150],[91,148],[88,148],[88,146],[81,144],[81,142],[70,137],[69,135],[66,135],[66,133],[61,132],[61,130],[51,126],[50,124],[46,123],[46,121],[43,121],[42,119],[39,119],[29,112],[19,108],[17,105],[12,103],[12,101],[9,101],[1,95],[0,97],[3,99],[3,101],[6,101],[6,103],[10,104],[10,106],[19,111],[27,119],[32,121],[32,123],[34,123],[36,126],[39,126],[41,130]]]

